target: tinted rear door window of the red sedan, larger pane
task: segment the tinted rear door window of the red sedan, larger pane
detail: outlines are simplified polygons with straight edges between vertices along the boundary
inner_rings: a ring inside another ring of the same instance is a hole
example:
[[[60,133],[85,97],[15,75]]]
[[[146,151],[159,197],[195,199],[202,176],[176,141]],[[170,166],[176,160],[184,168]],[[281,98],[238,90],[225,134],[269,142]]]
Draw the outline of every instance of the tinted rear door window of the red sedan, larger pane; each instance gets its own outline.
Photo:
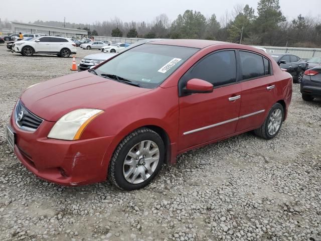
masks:
[[[242,80],[265,75],[263,57],[258,54],[240,51]]]

